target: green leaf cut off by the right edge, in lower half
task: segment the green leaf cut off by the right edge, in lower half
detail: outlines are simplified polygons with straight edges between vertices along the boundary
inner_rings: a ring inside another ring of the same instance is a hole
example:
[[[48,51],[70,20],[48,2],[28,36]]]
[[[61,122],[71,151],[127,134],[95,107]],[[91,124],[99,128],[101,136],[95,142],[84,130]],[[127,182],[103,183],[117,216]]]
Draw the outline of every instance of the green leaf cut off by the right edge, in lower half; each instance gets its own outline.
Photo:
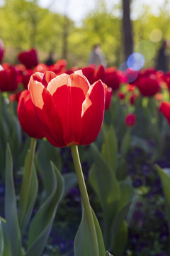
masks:
[[[166,215],[168,218],[168,222],[169,222],[169,228],[170,228],[170,175],[161,167],[159,167],[158,165],[155,166],[157,169],[157,172],[159,174],[159,177],[161,179],[162,182],[162,188],[164,191],[164,198],[166,201]]]

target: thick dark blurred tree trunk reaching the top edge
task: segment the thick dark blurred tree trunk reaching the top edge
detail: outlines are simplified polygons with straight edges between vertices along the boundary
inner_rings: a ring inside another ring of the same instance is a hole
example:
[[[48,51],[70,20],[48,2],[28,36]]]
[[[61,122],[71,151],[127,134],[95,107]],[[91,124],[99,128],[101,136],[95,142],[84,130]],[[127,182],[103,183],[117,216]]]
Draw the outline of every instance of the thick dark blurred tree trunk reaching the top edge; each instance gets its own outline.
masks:
[[[132,22],[130,20],[130,1],[123,0],[123,48],[124,58],[128,59],[128,56],[133,52],[133,39],[132,39]]]

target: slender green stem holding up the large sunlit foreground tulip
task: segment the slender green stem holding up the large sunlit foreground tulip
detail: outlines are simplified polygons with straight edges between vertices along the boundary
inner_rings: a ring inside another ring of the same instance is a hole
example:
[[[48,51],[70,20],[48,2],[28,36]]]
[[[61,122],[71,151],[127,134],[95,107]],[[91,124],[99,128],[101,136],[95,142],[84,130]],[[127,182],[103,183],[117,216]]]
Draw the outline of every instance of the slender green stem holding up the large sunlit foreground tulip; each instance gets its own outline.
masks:
[[[82,199],[83,206],[84,206],[84,213],[86,214],[86,218],[87,218],[89,228],[90,228],[90,232],[91,232],[92,242],[93,242],[93,245],[94,245],[94,252],[95,252],[94,256],[99,256],[96,228],[95,228],[95,225],[94,225],[94,218],[93,218],[92,211],[91,211],[89,196],[88,196],[88,193],[87,193],[87,190],[86,190],[86,184],[85,184],[85,181],[84,181],[83,171],[81,169],[81,162],[80,162],[80,159],[79,159],[78,147],[75,144],[73,144],[70,147],[71,147],[72,158],[73,158],[74,167],[75,167],[75,171],[76,171],[77,179],[78,179],[78,183],[79,183],[81,199]]]

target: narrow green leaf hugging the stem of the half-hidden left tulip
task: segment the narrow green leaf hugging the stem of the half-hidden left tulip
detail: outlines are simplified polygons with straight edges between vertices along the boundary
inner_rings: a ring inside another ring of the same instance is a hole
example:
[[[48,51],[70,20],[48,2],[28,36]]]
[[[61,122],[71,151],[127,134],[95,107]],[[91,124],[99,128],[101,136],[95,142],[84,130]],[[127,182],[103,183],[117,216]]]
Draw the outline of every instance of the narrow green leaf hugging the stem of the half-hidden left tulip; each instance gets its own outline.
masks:
[[[31,168],[29,159],[30,150],[28,150],[26,154],[25,164],[23,167],[23,181],[18,206],[18,219],[21,226],[21,233],[24,233],[24,230],[26,229],[29,223],[30,216],[33,212],[33,207],[38,193],[38,178],[36,176],[35,165],[33,164]],[[29,178],[30,184],[28,184]]]

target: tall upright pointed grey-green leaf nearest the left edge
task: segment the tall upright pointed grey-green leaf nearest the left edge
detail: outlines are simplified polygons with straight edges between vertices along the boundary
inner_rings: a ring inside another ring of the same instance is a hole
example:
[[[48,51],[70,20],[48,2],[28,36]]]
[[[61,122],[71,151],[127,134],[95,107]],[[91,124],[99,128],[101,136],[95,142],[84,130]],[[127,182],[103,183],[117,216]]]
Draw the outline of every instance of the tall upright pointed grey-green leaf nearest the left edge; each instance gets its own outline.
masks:
[[[6,193],[5,193],[5,218],[6,223],[2,223],[5,247],[12,256],[22,255],[21,233],[18,225],[18,215],[16,207],[16,194],[13,183],[13,161],[9,145],[6,148]]]

